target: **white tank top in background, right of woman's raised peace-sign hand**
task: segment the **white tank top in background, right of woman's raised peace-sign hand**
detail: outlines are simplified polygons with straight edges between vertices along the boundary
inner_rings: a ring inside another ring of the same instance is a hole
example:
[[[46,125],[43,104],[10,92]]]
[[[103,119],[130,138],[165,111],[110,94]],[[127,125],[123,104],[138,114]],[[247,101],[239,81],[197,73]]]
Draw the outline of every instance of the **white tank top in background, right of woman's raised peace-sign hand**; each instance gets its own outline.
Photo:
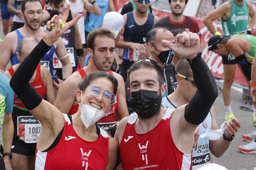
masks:
[[[78,24],[78,30],[81,36],[82,44],[85,44],[85,34],[84,34],[84,4],[82,0],[76,0],[75,3],[70,2],[69,0],[66,0],[67,4],[70,4],[70,9],[77,11],[79,14],[82,15],[82,17],[77,21]]]

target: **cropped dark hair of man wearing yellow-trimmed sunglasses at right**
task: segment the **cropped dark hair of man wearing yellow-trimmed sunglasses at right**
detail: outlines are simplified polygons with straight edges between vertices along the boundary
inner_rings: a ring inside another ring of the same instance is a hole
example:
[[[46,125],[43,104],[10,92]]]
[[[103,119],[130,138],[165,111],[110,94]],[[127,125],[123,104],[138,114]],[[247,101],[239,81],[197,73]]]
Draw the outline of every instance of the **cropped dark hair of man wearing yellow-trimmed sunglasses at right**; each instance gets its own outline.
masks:
[[[186,57],[181,58],[177,63],[176,72],[186,77],[193,77],[193,72]]]

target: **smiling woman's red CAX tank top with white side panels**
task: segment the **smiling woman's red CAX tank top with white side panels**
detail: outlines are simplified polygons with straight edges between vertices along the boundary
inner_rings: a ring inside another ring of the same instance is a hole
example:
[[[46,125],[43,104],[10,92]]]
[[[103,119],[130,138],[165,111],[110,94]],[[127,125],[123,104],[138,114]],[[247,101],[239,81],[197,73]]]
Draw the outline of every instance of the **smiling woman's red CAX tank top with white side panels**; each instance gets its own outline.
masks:
[[[36,149],[37,170],[81,169],[106,170],[108,164],[108,135],[100,129],[100,137],[93,142],[80,138],[68,118],[65,117],[59,143],[48,152]]]

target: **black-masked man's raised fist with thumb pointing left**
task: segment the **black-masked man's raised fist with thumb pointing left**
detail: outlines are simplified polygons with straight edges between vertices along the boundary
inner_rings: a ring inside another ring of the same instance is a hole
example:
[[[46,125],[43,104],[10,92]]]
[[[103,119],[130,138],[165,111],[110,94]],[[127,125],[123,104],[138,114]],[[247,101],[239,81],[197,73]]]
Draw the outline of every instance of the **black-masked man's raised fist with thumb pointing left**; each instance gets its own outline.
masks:
[[[199,52],[200,38],[197,33],[186,33],[184,31],[182,34],[177,35],[175,44],[167,40],[163,40],[162,43],[172,49],[174,53],[191,59]]]

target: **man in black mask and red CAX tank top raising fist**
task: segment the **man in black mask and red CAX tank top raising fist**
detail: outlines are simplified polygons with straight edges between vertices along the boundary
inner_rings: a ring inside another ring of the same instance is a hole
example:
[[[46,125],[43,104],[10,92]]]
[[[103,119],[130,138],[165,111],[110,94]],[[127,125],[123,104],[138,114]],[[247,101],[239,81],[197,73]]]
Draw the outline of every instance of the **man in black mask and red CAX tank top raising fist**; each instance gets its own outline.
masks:
[[[187,58],[198,90],[188,105],[165,109],[161,107],[161,99],[158,100],[166,89],[162,68],[150,59],[132,65],[127,71],[128,91],[136,113],[120,121],[114,137],[124,170],[191,169],[194,131],[218,96],[212,73],[198,53],[198,34],[183,32],[177,35],[176,44],[162,42]]]

